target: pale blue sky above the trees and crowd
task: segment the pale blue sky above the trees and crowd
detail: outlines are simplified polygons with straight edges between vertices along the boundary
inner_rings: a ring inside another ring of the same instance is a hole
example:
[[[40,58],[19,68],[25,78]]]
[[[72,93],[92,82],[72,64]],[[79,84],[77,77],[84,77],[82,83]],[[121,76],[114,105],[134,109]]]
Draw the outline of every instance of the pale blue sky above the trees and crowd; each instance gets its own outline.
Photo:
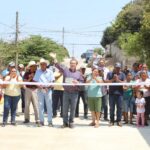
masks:
[[[19,12],[19,40],[30,35],[63,42],[70,56],[79,58],[100,47],[103,31],[131,0],[1,0],[0,38],[15,38],[15,15]]]

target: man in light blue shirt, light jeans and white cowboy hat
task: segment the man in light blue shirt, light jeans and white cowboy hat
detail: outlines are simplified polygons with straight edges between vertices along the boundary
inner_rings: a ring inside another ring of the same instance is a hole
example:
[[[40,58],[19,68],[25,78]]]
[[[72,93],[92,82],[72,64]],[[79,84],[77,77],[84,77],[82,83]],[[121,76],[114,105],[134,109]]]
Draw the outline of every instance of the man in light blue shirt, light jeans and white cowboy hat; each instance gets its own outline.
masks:
[[[39,83],[52,83],[55,78],[50,69],[47,69],[47,61],[45,59],[40,60],[40,69],[38,69],[33,78],[34,81]],[[52,86],[50,85],[38,85],[38,100],[39,100],[39,115],[40,124],[44,126],[44,101],[46,103],[48,114],[48,126],[53,127],[52,124]]]

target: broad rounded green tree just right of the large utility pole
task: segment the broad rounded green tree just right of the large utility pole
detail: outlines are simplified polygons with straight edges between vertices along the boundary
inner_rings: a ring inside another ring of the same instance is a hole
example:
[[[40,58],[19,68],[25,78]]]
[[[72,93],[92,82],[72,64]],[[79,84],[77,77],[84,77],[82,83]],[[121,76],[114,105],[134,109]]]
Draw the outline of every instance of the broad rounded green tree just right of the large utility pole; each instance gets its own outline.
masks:
[[[21,63],[28,63],[30,60],[39,61],[39,58],[50,60],[50,52],[55,52],[59,61],[69,56],[66,48],[49,38],[43,38],[41,36],[31,36],[21,41],[19,43],[19,49],[19,62]]]

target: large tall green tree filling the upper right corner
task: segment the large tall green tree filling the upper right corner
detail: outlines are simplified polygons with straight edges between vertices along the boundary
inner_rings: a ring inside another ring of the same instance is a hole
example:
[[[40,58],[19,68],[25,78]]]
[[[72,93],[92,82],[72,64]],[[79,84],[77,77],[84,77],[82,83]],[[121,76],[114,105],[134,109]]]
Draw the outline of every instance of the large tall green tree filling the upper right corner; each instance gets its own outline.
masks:
[[[101,43],[105,47],[114,41],[128,55],[138,56],[150,66],[150,0],[134,0],[122,9],[106,28]]]

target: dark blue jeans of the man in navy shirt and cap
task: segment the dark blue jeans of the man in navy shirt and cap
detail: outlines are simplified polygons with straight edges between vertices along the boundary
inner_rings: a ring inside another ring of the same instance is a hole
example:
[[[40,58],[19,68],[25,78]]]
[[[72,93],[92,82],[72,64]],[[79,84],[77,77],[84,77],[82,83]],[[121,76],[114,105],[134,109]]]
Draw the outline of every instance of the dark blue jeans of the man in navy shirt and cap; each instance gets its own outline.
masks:
[[[117,122],[121,121],[122,117],[122,95],[109,95],[110,121],[114,122],[115,105],[117,107]]]

